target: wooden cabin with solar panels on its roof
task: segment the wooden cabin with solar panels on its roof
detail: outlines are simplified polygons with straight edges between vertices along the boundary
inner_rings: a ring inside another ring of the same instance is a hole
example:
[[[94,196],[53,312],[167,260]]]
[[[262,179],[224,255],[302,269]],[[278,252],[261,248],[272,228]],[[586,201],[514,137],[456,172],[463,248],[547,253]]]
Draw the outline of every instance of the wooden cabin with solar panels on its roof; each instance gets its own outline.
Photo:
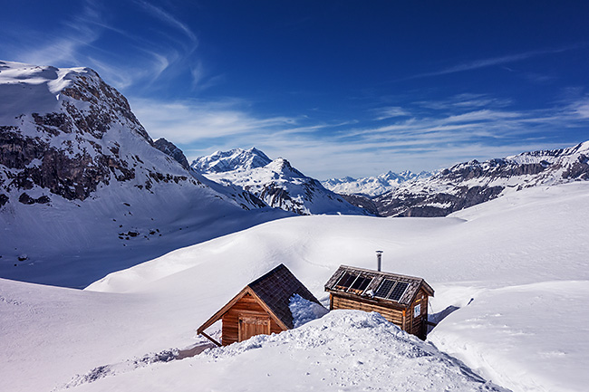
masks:
[[[341,265],[325,291],[330,293],[330,311],[378,311],[401,330],[426,338],[428,298],[434,292],[421,278]]]

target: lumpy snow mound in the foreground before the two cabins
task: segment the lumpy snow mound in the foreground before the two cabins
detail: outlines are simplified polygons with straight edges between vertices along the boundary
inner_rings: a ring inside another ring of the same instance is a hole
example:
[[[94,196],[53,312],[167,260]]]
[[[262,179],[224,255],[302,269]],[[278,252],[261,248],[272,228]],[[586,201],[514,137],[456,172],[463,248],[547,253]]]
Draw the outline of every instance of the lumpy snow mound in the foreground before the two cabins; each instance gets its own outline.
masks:
[[[378,313],[332,311],[278,335],[258,335],[181,361],[101,378],[104,391],[507,391],[402,332]]]

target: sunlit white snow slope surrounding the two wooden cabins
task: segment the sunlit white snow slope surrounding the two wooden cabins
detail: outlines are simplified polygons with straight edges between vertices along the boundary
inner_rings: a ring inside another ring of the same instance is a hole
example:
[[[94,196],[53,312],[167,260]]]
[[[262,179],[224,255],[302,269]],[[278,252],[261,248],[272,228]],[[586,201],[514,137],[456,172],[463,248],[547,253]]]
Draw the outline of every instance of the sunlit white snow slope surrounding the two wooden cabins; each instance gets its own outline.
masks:
[[[429,340],[438,349],[514,391],[584,391],[589,385],[583,311],[589,300],[587,206],[589,184],[576,183],[525,189],[442,218],[298,216],[111,273],[83,292],[0,280],[0,378],[8,380],[7,390],[50,390],[93,368],[198,344],[203,341],[194,336],[198,326],[277,263],[285,263],[324,302],[323,284],[337,266],[374,268],[374,250],[381,249],[385,271],[421,276],[436,290],[430,313],[439,325]],[[427,378],[431,387],[422,384],[426,380],[402,384],[398,374],[382,376],[380,356],[397,355],[397,349],[408,358],[402,359],[402,373],[408,375],[436,369],[428,361],[443,360],[438,354],[422,358],[423,347],[405,345],[408,339],[382,342],[381,331],[396,332],[372,316],[354,319],[371,337],[358,341],[359,334],[338,321],[345,317],[356,316],[332,315],[305,325],[306,332],[138,368],[74,390],[157,390],[168,383],[178,389],[247,390],[266,385],[272,374],[291,382],[278,378],[267,390],[300,390],[292,385],[294,375],[304,390],[387,390],[393,381],[402,390],[444,389],[436,376]],[[267,368],[252,368],[251,361],[263,357]],[[435,374],[456,375],[456,369],[449,363]],[[198,385],[189,370],[198,370]],[[362,378],[363,372],[374,377]],[[468,374],[445,380],[478,390],[481,384]],[[224,389],[219,378],[229,375],[237,375],[235,384]]]

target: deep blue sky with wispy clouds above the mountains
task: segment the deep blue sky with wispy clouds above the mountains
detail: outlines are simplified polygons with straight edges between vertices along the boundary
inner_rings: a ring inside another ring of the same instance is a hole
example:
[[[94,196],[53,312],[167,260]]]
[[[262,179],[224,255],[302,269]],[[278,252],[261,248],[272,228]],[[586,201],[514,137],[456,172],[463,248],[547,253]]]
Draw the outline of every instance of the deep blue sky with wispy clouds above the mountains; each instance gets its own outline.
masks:
[[[589,2],[10,2],[0,59],[88,66],[188,159],[318,178],[589,139]],[[4,99],[4,98],[3,98]]]

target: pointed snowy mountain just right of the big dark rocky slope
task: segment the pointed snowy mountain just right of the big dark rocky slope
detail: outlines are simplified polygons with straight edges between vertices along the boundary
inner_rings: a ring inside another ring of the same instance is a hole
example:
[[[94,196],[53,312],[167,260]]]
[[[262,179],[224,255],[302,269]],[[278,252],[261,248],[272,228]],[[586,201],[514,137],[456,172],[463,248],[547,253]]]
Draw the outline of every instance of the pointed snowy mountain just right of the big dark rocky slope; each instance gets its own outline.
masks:
[[[191,167],[217,183],[243,187],[268,206],[299,215],[368,214],[325,189],[318,180],[304,176],[286,159],[271,160],[256,148],[217,151],[197,158]]]

